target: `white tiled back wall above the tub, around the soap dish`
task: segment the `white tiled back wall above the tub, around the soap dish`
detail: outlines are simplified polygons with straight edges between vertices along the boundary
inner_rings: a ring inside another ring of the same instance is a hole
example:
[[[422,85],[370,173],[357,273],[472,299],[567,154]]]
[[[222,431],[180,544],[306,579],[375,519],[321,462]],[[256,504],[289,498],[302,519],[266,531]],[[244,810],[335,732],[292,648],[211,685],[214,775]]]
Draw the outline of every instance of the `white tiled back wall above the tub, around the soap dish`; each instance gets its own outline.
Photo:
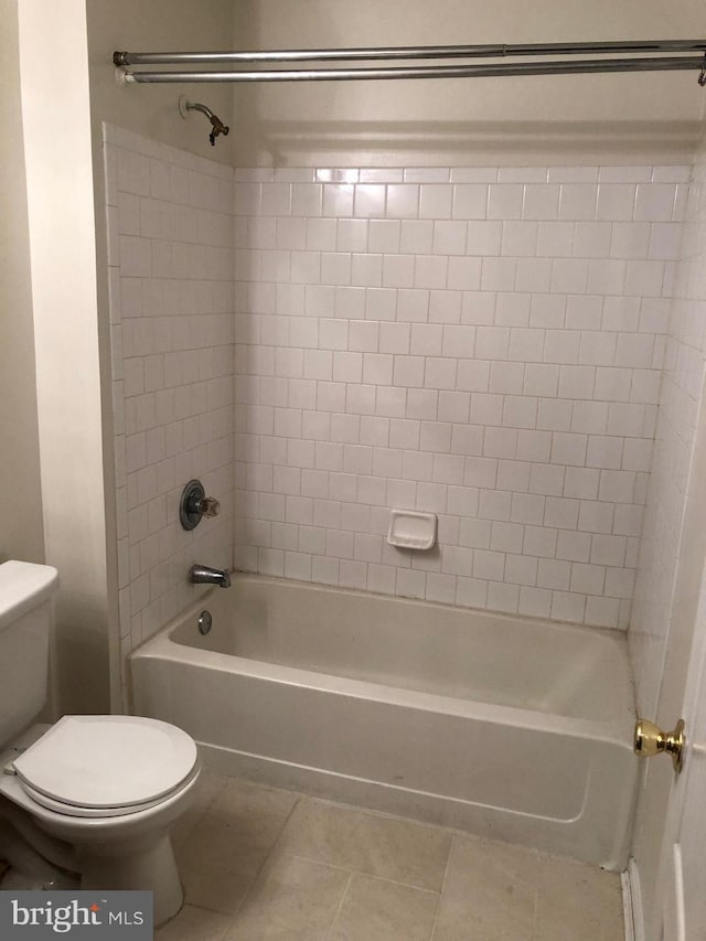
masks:
[[[688,178],[236,170],[236,565],[627,628]]]

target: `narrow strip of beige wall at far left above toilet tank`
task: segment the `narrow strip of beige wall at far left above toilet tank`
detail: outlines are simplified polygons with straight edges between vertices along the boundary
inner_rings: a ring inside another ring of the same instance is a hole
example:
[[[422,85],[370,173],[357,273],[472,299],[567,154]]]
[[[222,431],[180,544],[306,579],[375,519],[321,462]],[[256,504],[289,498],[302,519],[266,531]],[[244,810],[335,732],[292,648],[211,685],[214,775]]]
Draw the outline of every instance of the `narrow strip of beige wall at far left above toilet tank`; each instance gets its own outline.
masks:
[[[0,560],[44,562],[17,0],[0,3]]]

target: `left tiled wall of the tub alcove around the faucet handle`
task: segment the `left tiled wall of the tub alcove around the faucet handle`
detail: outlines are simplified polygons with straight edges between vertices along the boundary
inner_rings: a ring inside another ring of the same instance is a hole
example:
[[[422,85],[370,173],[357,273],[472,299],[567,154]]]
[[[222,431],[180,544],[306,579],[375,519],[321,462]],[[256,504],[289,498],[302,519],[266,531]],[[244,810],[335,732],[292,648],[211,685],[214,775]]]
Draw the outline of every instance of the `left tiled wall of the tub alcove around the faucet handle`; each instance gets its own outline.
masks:
[[[190,566],[232,564],[234,171],[108,125],[104,156],[125,685],[125,656],[202,590]],[[194,477],[221,514],[186,533]]]

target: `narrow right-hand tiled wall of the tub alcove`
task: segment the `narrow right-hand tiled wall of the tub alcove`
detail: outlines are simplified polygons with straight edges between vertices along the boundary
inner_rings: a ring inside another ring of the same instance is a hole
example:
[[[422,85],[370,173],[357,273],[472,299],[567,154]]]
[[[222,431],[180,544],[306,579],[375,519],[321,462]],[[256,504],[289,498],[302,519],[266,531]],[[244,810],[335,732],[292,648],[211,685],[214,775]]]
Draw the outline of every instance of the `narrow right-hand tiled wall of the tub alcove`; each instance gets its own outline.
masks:
[[[641,217],[659,213],[664,197],[662,186],[655,189],[653,196],[643,192]],[[674,278],[655,451],[630,631],[638,707],[642,715],[656,712],[672,621],[675,578],[682,555],[687,488],[696,448],[699,409],[704,400],[706,151],[703,148],[693,169],[681,249],[676,238],[661,227],[651,233],[650,244],[653,239],[663,246],[665,253],[668,250],[673,257],[678,257],[680,261]],[[662,320],[662,312],[648,310],[646,320],[656,324]],[[637,453],[635,459],[639,459]]]

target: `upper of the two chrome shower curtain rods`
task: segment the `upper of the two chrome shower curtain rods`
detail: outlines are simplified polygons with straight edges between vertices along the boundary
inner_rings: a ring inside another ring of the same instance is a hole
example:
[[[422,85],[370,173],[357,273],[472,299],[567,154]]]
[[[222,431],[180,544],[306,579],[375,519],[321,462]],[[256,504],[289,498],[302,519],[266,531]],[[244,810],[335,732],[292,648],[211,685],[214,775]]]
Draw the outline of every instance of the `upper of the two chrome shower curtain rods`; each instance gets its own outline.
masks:
[[[239,52],[115,52],[116,65],[220,65],[242,62],[325,62],[400,58],[494,58],[532,55],[706,52],[706,40],[629,42],[491,43],[480,45],[391,46],[377,49],[269,50]]]

